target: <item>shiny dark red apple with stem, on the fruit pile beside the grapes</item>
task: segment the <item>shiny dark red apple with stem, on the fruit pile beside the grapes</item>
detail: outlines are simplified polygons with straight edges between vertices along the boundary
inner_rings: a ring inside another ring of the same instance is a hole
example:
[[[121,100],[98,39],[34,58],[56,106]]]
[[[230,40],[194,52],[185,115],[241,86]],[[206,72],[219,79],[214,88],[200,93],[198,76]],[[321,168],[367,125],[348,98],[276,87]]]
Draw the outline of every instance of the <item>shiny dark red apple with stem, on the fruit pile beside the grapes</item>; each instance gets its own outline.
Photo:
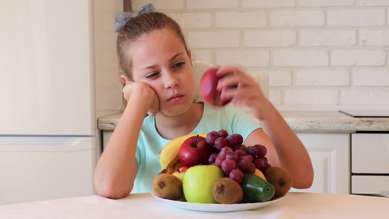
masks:
[[[184,166],[208,165],[208,158],[214,152],[214,147],[202,136],[192,136],[185,140],[178,154]]]

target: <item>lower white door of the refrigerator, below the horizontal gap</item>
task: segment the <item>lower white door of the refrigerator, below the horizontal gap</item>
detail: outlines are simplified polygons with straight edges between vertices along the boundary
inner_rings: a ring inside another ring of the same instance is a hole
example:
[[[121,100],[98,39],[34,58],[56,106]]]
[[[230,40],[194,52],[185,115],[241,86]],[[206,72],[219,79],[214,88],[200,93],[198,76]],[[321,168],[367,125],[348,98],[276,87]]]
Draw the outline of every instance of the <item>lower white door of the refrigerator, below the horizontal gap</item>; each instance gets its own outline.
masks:
[[[0,205],[97,194],[95,137],[0,136]]]

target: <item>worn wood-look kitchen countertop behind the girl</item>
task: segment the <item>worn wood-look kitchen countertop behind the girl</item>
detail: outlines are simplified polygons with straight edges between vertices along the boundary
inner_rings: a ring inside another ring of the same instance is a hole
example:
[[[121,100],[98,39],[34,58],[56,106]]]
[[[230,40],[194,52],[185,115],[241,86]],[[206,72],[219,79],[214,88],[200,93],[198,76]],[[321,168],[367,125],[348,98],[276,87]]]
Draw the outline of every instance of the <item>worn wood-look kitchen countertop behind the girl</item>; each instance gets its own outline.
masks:
[[[354,118],[338,111],[280,111],[295,132],[389,131],[389,118]],[[98,129],[114,131],[122,113],[98,118]]]

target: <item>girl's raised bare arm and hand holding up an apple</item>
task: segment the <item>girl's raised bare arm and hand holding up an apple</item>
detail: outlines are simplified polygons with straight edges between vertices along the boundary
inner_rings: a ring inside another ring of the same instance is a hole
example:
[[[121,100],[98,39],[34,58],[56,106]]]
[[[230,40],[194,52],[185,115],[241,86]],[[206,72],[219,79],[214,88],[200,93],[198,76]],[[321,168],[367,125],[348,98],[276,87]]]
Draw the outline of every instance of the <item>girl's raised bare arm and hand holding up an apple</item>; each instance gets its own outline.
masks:
[[[279,111],[263,95],[258,83],[237,67],[223,66],[216,74],[223,77],[217,85],[222,92],[221,99],[232,99],[235,105],[248,106],[265,130],[252,132],[244,144],[264,145],[268,149],[268,162],[286,169],[291,174],[294,188],[309,188],[314,171],[308,152]]]

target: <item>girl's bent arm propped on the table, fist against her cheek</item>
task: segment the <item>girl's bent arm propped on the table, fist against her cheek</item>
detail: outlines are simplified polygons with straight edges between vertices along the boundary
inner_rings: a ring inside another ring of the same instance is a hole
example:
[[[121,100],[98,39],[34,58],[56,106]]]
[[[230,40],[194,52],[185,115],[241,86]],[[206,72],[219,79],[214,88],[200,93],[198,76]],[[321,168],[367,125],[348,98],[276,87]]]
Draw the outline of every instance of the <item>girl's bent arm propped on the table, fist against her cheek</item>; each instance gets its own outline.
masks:
[[[146,86],[137,82],[123,89],[131,93],[126,98],[127,107],[95,168],[95,188],[100,196],[119,199],[132,191],[138,172],[135,151],[140,128],[153,101],[158,99],[154,90]]]

